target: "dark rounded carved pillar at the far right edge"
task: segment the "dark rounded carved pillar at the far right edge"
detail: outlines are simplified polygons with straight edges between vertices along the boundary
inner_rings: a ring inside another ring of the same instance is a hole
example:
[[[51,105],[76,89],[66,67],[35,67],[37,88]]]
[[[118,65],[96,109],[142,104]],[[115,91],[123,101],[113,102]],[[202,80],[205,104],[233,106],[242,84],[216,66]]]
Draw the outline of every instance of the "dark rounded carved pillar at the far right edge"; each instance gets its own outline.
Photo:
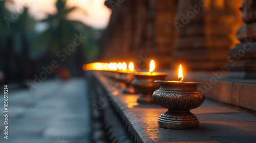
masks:
[[[244,0],[240,10],[245,25],[237,31],[241,43],[228,53],[227,77],[256,79],[256,1]]]

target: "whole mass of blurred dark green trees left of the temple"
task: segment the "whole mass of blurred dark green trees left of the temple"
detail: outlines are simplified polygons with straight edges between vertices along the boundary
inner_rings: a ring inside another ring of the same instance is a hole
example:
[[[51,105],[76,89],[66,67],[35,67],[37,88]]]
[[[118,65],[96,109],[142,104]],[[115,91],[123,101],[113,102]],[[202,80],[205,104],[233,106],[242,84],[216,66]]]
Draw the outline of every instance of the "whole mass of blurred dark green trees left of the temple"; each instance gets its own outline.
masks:
[[[44,70],[42,66],[51,65],[53,60],[58,61],[60,67],[68,67],[73,75],[82,75],[82,65],[95,61],[101,30],[68,20],[67,15],[78,8],[66,8],[66,1],[57,0],[56,14],[36,21],[28,8],[19,13],[11,12],[5,6],[7,2],[13,4],[12,0],[0,0],[0,70],[4,71],[7,81],[34,79],[34,75],[39,76]],[[87,39],[77,40],[80,44],[75,50],[67,54],[65,60],[60,58],[58,53],[65,54],[63,49],[80,35]]]

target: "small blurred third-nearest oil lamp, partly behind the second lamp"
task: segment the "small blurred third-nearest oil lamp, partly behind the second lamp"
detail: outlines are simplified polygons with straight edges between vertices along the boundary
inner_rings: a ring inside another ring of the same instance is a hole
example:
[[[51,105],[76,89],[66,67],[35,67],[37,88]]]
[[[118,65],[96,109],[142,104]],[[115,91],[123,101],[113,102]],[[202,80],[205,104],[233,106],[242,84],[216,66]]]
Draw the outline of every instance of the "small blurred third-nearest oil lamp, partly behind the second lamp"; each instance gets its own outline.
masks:
[[[122,72],[119,72],[116,76],[116,79],[119,82],[123,82],[125,85],[123,87],[123,93],[135,93],[135,89],[132,85],[132,81],[134,80],[134,75],[132,74],[134,72],[134,65],[133,62],[129,63],[129,68],[127,68],[126,63],[122,63]]]

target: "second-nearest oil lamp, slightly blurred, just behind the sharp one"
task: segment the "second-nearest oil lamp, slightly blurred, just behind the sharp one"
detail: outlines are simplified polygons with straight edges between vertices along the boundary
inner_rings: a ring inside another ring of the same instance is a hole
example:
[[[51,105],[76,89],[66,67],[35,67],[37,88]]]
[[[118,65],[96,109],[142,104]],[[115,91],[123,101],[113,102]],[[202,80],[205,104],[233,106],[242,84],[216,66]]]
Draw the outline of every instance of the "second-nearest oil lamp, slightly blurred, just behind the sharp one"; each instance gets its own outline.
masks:
[[[136,72],[135,80],[132,82],[133,87],[136,91],[140,91],[141,94],[137,100],[139,103],[154,103],[152,94],[155,90],[159,89],[159,84],[155,83],[155,80],[164,80],[167,73],[156,73],[153,72],[155,69],[155,62],[150,62],[149,72]]]

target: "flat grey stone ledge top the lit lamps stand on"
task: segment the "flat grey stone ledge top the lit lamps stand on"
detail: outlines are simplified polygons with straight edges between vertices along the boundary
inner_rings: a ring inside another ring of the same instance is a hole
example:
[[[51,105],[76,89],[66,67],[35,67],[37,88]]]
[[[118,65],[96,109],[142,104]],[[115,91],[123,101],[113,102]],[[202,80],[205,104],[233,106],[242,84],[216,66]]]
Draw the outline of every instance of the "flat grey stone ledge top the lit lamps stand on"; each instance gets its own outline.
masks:
[[[95,72],[99,84],[111,89],[99,72]],[[111,90],[109,90],[111,93]],[[256,116],[205,100],[202,106],[191,110],[199,121],[199,128],[193,130],[170,130],[160,128],[158,117],[167,109],[155,104],[137,103],[137,94],[122,94],[118,89],[112,92],[110,101],[125,123],[126,130],[135,142],[255,142]]]

